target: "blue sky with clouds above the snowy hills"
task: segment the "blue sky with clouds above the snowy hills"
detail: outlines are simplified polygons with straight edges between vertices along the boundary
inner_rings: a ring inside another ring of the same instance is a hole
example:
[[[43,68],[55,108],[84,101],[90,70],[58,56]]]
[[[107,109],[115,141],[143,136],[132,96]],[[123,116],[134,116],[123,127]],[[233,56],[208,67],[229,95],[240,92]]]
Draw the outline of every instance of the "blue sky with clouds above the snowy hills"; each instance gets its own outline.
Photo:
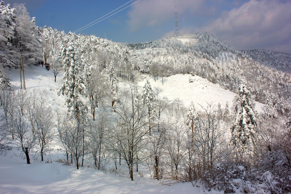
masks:
[[[51,26],[66,33],[129,1],[4,0],[11,5],[25,3],[38,26]],[[176,0],[176,3],[181,34],[207,31],[239,50],[261,48],[291,54],[290,0]],[[139,0],[79,33],[102,38],[106,33],[106,38],[116,42],[146,42],[170,37],[174,27],[175,0]]]

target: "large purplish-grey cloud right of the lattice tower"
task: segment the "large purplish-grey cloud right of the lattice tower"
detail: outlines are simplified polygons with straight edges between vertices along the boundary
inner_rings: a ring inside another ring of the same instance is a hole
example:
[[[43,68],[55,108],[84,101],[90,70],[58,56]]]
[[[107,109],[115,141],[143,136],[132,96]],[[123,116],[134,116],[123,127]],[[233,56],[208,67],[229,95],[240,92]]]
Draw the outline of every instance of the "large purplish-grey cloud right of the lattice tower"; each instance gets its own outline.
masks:
[[[236,49],[264,48],[291,53],[290,10],[290,1],[251,0],[192,32],[211,32]]]

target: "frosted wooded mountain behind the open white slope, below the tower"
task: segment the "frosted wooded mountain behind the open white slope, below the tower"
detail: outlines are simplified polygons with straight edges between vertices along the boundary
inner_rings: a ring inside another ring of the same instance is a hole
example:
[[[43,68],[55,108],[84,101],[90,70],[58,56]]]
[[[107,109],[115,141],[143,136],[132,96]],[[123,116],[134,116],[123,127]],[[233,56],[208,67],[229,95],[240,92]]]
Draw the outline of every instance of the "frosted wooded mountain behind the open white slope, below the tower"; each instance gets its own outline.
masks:
[[[291,110],[290,54],[263,49],[239,51],[207,32],[196,33],[194,38],[162,38],[124,46],[150,61],[149,74],[191,73],[233,92],[244,78],[258,102],[272,100],[281,113]],[[134,67],[139,70],[139,65]]]

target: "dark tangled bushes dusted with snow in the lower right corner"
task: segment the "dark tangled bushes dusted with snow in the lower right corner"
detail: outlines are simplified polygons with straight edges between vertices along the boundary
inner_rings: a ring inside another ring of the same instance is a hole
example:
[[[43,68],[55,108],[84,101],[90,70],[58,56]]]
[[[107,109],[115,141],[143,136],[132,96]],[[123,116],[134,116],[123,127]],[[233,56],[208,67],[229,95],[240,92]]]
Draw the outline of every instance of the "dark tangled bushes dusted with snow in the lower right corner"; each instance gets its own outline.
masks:
[[[206,170],[201,182],[210,191],[224,193],[290,193],[291,167],[283,150],[268,152],[253,168],[220,162]]]

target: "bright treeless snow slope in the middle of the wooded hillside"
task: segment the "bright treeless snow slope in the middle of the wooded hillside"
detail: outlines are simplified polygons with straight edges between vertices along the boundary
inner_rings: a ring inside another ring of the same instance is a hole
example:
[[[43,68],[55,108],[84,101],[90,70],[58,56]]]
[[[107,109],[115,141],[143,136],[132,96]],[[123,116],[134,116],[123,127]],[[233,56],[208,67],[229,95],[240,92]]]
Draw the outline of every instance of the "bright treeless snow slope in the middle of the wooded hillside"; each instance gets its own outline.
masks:
[[[139,84],[144,86],[144,83],[145,80]],[[218,84],[213,84],[207,79],[200,76],[191,76],[190,74],[176,74],[164,77],[163,80],[158,77],[156,81],[151,78],[150,84],[152,88],[159,87],[163,89],[162,96],[170,100],[179,98],[186,107],[189,107],[191,102],[194,102],[198,109],[201,109],[201,106],[206,107],[207,103],[211,102],[214,104],[220,103],[222,108],[228,102],[232,109],[233,98],[235,97],[235,93],[221,88]],[[259,113],[263,113],[263,106],[262,103],[256,102],[255,108]]]

